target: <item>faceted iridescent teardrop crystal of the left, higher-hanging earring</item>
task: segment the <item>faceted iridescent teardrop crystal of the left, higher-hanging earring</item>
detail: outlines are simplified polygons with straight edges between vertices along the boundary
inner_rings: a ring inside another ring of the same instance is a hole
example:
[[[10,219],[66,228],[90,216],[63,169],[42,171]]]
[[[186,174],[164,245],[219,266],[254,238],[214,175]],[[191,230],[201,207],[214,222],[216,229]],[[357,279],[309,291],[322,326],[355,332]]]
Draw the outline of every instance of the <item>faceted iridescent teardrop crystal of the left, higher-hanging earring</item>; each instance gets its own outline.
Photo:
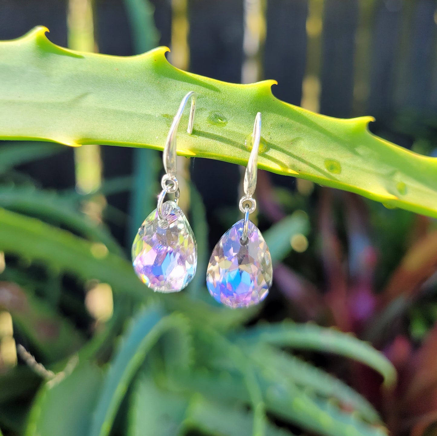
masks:
[[[132,244],[136,275],[158,292],[185,288],[197,268],[197,244],[187,218],[174,201],[162,207],[164,220],[155,209],[142,223]]]

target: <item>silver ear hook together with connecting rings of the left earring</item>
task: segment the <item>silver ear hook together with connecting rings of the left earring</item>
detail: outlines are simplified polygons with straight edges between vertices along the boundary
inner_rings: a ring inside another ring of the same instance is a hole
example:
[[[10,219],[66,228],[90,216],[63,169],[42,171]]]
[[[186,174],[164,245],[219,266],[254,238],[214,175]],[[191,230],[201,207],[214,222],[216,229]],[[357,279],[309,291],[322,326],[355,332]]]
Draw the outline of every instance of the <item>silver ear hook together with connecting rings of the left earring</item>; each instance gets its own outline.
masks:
[[[170,131],[168,132],[166,143],[163,150],[163,165],[166,174],[163,175],[161,179],[162,191],[158,196],[158,215],[161,220],[164,219],[162,213],[163,201],[166,194],[175,193],[175,203],[179,202],[179,182],[176,178],[177,171],[177,129],[179,127],[180,120],[182,119],[182,114],[184,113],[185,106],[187,106],[188,100],[191,98],[190,115],[188,118],[188,128],[187,133],[193,133],[193,123],[194,123],[194,113],[196,112],[196,101],[197,94],[194,91],[190,91],[182,99],[179,105],[179,109],[175,117],[173,118],[173,123],[171,124]]]

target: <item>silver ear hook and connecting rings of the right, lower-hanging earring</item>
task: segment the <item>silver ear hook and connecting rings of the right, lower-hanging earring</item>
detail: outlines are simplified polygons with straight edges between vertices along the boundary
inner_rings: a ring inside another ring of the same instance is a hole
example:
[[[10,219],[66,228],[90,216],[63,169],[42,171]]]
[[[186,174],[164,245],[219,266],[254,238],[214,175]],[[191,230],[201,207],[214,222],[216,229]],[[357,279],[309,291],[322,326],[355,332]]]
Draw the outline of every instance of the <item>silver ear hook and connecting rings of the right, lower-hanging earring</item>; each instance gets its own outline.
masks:
[[[258,112],[253,124],[252,133],[252,151],[250,151],[249,161],[247,162],[246,172],[244,173],[243,190],[244,196],[241,197],[239,208],[244,213],[243,235],[241,241],[243,244],[247,242],[247,231],[249,227],[249,214],[253,213],[257,208],[257,202],[253,198],[253,194],[257,187],[257,171],[258,171],[258,152],[260,150],[261,141],[261,113]]]

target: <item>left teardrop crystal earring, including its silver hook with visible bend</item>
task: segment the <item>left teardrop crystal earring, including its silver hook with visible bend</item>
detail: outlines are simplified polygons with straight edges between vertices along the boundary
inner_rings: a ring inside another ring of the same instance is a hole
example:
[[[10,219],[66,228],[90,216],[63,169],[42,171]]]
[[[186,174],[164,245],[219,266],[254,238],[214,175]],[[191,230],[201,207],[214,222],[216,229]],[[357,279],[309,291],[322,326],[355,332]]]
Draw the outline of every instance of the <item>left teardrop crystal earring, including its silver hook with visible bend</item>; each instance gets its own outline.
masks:
[[[177,128],[191,98],[188,134],[193,131],[196,94],[191,91],[180,103],[163,151],[166,174],[161,180],[158,206],[144,220],[132,244],[132,264],[136,275],[155,292],[178,292],[194,277],[197,268],[197,244],[193,230],[178,206],[180,191],[176,178]],[[166,194],[174,201],[163,203]]]

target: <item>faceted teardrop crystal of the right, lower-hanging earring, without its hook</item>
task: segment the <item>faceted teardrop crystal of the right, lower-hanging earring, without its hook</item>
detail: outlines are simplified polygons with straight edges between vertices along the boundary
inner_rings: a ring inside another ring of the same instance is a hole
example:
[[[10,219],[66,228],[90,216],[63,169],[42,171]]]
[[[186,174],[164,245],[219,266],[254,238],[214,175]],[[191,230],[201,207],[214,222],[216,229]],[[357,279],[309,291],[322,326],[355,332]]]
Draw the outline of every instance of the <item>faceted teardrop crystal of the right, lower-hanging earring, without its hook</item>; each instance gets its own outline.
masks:
[[[209,293],[232,308],[247,307],[266,298],[272,284],[269,247],[257,226],[249,221],[246,244],[244,220],[235,223],[212,251],[206,273]]]

